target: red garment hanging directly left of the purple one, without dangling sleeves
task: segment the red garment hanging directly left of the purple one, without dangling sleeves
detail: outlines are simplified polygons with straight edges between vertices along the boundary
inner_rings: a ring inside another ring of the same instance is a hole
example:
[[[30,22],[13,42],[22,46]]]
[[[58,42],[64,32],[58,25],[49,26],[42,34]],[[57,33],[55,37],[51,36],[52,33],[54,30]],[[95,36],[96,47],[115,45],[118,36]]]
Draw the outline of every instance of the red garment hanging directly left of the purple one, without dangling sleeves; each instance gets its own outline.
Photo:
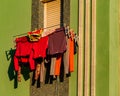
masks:
[[[46,57],[48,48],[48,36],[41,37],[39,41],[33,43],[33,58]]]

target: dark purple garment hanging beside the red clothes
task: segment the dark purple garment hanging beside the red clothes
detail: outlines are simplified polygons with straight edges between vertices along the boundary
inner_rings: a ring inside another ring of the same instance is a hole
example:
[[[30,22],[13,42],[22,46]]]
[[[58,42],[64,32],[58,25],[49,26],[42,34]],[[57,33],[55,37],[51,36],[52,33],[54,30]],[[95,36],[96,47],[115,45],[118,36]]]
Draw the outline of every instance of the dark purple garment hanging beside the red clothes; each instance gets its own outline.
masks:
[[[63,53],[66,50],[66,37],[64,28],[58,28],[54,33],[49,35],[48,54],[54,55]]]

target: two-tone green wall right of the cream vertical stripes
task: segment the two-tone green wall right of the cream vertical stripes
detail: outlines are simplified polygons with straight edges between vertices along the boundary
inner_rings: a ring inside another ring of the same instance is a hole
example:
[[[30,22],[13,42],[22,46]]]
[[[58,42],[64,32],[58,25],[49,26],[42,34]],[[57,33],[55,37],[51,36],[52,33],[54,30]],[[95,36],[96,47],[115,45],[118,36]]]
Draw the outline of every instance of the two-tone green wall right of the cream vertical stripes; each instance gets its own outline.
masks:
[[[118,0],[97,0],[96,96],[118,96]]]

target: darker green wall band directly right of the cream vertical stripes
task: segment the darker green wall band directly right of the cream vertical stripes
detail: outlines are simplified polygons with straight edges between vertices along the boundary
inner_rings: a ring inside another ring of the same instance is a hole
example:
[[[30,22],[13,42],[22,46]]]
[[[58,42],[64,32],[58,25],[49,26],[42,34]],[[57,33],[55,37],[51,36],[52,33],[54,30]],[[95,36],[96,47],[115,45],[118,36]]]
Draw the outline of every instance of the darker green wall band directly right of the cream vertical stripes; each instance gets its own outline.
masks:
[[[96,96],[109,96],[109,0],[96,3]]]

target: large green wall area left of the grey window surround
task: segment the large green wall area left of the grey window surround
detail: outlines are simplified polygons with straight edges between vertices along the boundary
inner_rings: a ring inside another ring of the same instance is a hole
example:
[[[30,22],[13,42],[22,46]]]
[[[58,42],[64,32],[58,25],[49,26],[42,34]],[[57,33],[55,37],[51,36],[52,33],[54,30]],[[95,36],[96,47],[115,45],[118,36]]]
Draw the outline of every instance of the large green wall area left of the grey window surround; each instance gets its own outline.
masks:
[[[13,63],[7,60],[5,52],[14,48],[14,35],[30,30],[31,0],[0,0],[0,96],[29,96],[29,80],[22,78],[18,88],[14,88],[14,80],[9,78],[13,75],[9,70]]]

